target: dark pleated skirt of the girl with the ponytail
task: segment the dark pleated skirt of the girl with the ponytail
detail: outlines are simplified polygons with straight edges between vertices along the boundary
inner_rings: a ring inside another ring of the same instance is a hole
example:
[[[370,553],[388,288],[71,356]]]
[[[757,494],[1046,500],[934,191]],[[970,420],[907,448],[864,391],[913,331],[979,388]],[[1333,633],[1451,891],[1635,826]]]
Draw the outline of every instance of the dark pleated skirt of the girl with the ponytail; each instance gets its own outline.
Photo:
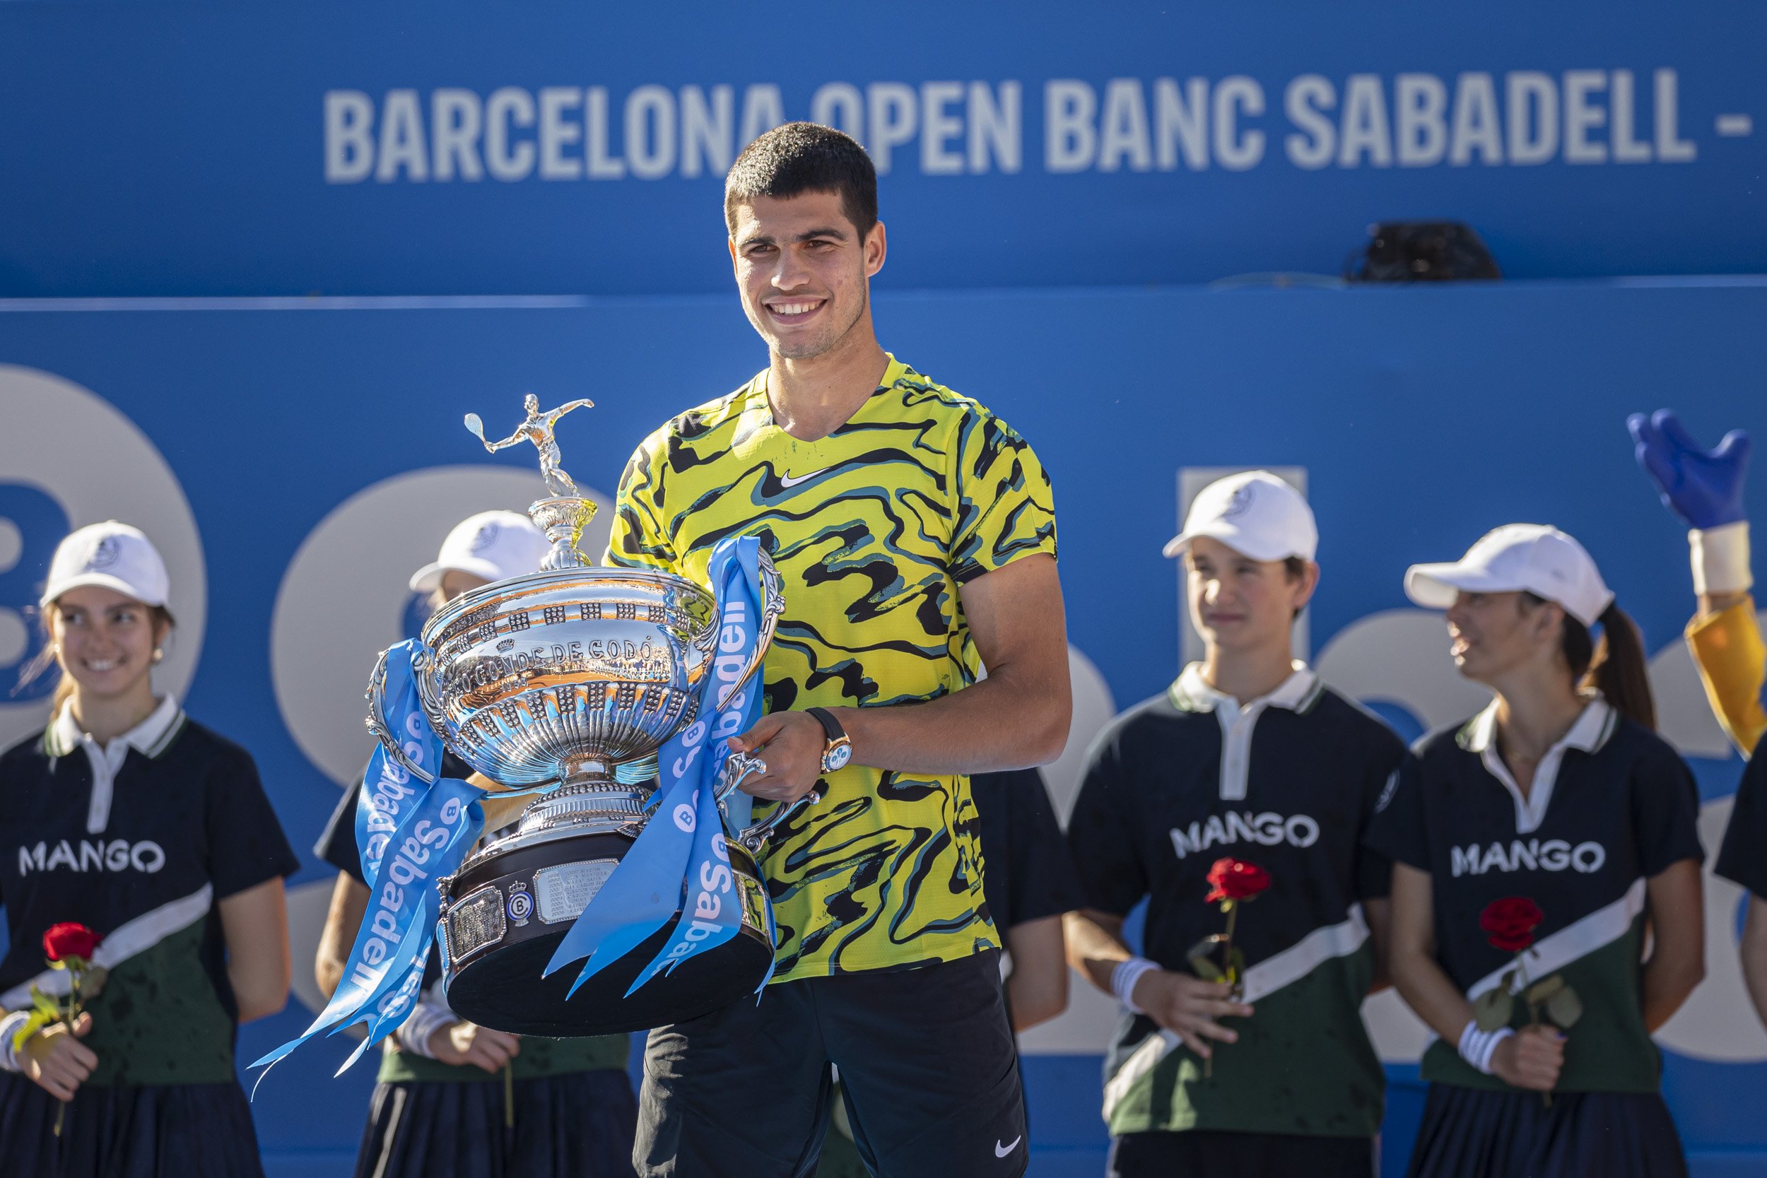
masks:
[[[1408,1178],[1687,1178],[1657,1093],[1430,1084]]]

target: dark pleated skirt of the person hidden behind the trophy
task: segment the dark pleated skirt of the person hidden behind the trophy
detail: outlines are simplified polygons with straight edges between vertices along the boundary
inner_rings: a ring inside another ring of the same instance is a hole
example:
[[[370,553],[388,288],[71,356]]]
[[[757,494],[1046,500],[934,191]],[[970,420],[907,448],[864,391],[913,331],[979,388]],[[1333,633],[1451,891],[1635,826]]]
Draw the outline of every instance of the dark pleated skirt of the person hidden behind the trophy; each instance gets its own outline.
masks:
[[[624,1070],[504,1083],[376,1084],[355,1178],[631,1178],[638,1100]]]

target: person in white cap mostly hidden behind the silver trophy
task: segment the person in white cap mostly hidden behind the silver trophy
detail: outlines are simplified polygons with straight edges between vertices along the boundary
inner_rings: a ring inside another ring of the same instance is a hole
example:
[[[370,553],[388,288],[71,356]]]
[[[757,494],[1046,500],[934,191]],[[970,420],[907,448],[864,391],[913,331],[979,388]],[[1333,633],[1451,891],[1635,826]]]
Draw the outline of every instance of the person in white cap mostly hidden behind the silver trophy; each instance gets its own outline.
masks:
[[[491,581],[539,569],[550,544],[527,516],[470,516],[442,540],[436,560],[412,574],[431,608]],[[472,768],[444,752],[442,775]],[[329,996],[343,978],[368,910],[355,842],[360,782],[337,800],[315,853],[337,867],[315,977]],[[504,804],[507,807],[509,804]],[[519,805],[504,809],[507,818]],[[489,811],[489,807],[488,807]],[[486,819],[488,837],[495,818]],[[357,1178],[604,1178],[631,1174],[638,1104],[626,1072],[626,1035],[537,1038],[454,1016],[435,948],[417,1010],[383,1040],[380,1076],[357,1152]]]

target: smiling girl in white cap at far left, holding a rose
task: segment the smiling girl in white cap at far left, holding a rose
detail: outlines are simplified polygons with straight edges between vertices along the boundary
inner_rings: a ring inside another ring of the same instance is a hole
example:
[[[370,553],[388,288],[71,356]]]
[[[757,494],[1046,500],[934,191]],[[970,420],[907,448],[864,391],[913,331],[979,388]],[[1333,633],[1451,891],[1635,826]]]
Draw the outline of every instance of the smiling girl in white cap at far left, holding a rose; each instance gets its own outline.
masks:
[[[0,1176],[253,1178],[240,1023],[288,998],[297,867],[239,745],[155,698],[166,567],[118,523],[62,540],[42,597],[62,669],[49,728],[0,756]],[[102,936],[72,1030],[14,1047],[32,985],[67,994],[44,931]],[[95,994],[94,994],[95,991]]]

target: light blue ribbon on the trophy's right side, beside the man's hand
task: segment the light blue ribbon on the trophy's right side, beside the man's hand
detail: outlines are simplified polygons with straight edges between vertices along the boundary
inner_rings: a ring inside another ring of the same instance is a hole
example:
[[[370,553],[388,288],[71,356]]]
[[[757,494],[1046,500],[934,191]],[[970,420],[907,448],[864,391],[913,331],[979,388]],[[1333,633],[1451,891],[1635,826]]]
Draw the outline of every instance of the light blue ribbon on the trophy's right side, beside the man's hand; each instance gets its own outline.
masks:
[[[627,994],[694,954],[723,945],[740,929],[742,908],[717,789],[730,736],[747,731],[760,717],[760,676],[740,683],[760,636],[760,540],[755,537],[726,537],[712,549],[707,579],[717,609],[717,657],[712,673],[700,682],[694,722],[657,751],[656,818],[546,963],[544,973],[551,975],[588,957],[571,993],[641,945],[677,911],[675,936],[640,971]],[[740,691],[733,691],[737,687]],[[724,807],[732,821],[746,823],[747,802],[747,795],[728,793]]]

